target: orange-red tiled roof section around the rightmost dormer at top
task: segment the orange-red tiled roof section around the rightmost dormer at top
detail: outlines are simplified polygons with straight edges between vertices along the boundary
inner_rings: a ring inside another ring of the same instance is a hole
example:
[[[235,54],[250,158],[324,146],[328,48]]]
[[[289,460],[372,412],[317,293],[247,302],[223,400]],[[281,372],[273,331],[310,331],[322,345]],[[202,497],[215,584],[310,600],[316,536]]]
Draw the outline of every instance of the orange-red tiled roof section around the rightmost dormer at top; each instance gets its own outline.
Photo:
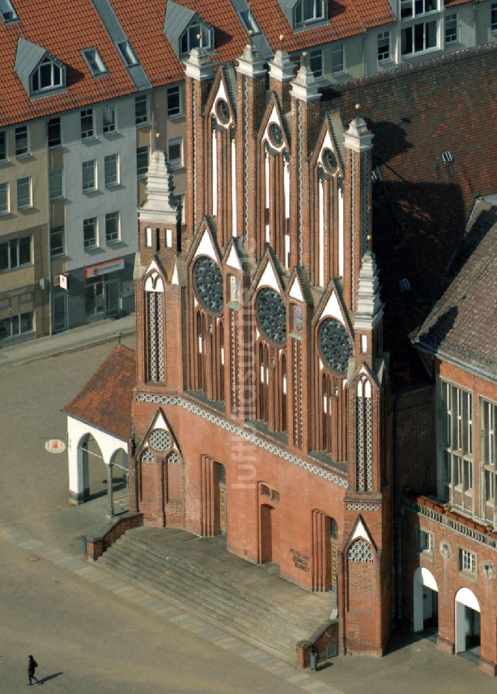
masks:
[[[250,6],[271,49],[277,51],[283,47],[289,53],[396,21],[388,0],[329,0],[326,24],[293,31],[277,0],[251,0]],[[283,42],[280,35],[284,37]]]

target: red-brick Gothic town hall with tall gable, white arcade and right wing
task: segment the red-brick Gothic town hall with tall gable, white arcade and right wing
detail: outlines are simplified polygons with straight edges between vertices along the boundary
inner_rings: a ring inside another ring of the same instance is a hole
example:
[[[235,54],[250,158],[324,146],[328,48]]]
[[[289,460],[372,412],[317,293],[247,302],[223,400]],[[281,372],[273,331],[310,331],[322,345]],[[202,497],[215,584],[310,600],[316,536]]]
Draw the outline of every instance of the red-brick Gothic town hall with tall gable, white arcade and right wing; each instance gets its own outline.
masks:
[[[137,523],[330,593],[339,654],[403,625],[496,675],[496,135],[457,135],[496,51],[334,90],[283,50],[211,58],[185,61],[183,222],[151,154],[136,353],[65,408],[71,498],[92,433]]]

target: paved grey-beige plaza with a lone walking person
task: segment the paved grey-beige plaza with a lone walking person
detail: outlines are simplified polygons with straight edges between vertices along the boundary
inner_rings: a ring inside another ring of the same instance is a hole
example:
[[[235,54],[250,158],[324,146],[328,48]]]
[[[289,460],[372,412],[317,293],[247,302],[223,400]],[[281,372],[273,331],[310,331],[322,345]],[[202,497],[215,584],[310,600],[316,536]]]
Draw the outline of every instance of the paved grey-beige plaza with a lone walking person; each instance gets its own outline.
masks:
[[[339,657],[298,672],[87,564],[81,538],[105,524],[106,498],[69,507],[67,457],[46,452],[44,441],[65,439],[60,409],[108,355],[113,332],[102,325],[100,344],[81,349],[71,335],[70,352],[62,339],[57,354],[44,346],[34,361],[34,344],[29,358],[22,346],[0,350],[2,694],[26,690],[29,653],[44,691],[60,694],[494,693],[493,678],[427,639],[392,641],[383,659]],[[124,343],[134,347],[133,337]],[[117,508],[125,505],[117,493]]]

